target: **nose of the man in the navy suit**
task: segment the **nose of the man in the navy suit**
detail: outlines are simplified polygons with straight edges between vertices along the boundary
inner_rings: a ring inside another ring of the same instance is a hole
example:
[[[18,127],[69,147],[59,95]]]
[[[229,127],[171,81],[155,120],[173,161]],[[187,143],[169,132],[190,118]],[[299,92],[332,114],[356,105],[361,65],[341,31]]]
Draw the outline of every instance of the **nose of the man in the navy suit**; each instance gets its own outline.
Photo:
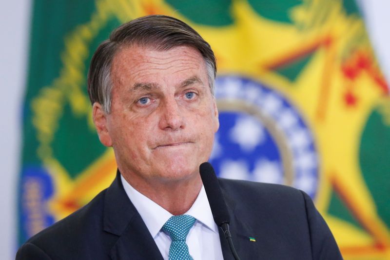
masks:
[[[182,111],[175,99],[164,100],[161,104],[161,115],[158,126],[160,129],[171,129],[173,131],[184,128]]]

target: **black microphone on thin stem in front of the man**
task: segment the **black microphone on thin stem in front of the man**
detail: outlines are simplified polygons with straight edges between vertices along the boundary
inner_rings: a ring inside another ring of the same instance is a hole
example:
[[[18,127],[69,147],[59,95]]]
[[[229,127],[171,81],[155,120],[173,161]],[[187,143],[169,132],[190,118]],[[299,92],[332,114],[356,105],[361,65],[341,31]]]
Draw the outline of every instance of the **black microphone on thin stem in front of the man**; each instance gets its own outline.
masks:
[[[213,166],[209,162],[203,162],[199,166],[200,178],[203,181],[203,186],[206,191],[207,199],[209,200],[211,212],[215,223],[222,229],[228,240],[230,251],[235,260],[240,260],[235,251],[232,235],[229,230],[230,216],[228,207],[223,199],[221,187],[219,187],[218,179],[216,179]]]

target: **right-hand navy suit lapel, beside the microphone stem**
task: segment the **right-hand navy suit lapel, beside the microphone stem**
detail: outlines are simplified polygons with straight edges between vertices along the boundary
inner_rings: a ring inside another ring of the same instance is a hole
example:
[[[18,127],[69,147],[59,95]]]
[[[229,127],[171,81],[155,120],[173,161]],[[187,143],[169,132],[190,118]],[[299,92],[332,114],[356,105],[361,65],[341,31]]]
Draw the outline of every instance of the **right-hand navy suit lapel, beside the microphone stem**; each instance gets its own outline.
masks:
[[[250,240],[250,237],[254,236],[252,229],[245,221],[240,219],[239,206],[237,206],[236,202],[228,195],[228,192],[223,189],[223,186],[221,186],[221,190],[230,215],[229,229],[237,255],[240,259],[258,259],[256,242]],[[234,260],[229,244],[221,228],[219,228],[219,237],[221,240],[223,259]]]

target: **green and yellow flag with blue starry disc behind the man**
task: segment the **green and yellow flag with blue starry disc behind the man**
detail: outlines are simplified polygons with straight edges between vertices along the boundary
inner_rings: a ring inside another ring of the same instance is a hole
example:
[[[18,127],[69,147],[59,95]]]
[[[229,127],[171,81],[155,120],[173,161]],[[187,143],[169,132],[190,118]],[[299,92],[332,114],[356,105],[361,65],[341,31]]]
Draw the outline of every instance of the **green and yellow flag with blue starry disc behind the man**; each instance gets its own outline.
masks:
[[[23,107],[19,242],[114,179],[86,75],[98,44],[149,14],[217,57],[219,176],[306,191],[345,259],[390,259],[390,101],[352,0],[36,0]]]

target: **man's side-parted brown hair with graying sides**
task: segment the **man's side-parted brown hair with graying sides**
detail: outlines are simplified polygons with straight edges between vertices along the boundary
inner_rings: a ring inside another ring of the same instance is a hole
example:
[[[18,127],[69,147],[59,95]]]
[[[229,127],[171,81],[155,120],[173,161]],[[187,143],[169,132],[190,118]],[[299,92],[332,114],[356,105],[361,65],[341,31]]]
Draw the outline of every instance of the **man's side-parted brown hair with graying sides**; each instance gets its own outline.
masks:
[[[88,72],[88,94],[91,103],[102,105],[104,113],[111,108],[111,66],[120,47],[136,44],[164,51],[178,46],[194,47],[206,64],[209,87],[214,95],[216,61],[214,52],[203,38],[188,24],[173,17],[151,15],[137,18],[119,26],[103,41],[92,57]]]

